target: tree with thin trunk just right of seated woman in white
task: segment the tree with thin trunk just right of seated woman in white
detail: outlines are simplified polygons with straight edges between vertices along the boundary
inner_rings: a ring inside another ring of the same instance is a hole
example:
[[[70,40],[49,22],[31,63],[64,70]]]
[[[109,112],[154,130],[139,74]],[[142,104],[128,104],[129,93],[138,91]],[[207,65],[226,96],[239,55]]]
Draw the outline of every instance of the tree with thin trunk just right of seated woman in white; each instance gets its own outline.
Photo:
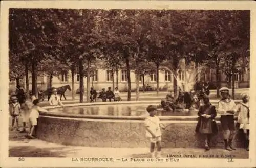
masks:
[[[127,71],[128,94],[127,100],[131,100],[131,65],[130,59],[137,51],[135,40],[132,38],[134,29],[134,16],[137,12],[132,10],[111,10],[105,22],[106,45],[121,54],[121,60],[125,63]],[[101,32],[103,33],[103,32]]]

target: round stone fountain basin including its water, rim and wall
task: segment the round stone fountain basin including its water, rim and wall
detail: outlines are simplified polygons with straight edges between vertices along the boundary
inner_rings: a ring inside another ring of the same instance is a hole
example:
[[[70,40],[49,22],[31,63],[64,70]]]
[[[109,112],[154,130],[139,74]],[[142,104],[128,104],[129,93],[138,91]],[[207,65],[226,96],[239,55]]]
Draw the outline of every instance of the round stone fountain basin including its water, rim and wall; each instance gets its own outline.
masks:
[[[211,102],[217,105],[216,102]],[[159,101],[127,101],[68,104],[65,108],[44,107],[38,120],[37,137],[63,145],[91,147],[148,147],[144,119],[145,108]],[[195,133],[197,111],[159,111],[163,147],[203,147],[201,135]],[[219,133],[213,146],[223,146],[219,116]],[[236,136],[234,145],[242,145]]]

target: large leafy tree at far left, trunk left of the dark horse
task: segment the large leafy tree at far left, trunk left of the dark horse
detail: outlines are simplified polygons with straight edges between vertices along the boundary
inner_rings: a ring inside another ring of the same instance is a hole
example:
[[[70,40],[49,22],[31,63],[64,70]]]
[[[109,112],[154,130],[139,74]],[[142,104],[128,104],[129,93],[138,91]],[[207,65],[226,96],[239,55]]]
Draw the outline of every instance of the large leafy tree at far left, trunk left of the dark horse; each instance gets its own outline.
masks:
[[[52,9],[10,9],[10,50],[17,54],[20,50],[16,49],[24,47],[22,60],[32,66],[32,93],[37,97],[37,65],[46,58],[44,54],[51,46],[48,44],[54,41],[57,33],[52,13]],[[15,45],[17,37],[19,40]]]

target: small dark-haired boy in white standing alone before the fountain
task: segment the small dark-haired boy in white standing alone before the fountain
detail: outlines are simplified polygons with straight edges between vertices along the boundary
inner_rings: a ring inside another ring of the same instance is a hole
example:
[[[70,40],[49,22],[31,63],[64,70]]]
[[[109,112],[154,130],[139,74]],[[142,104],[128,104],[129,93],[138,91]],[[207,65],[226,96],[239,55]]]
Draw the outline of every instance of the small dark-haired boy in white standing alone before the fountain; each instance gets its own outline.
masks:
[[[151,157],[155,157],[154,149],[155,149],[155,143],[157,145],[157,152],[156,157],[161,157],[161,130],[160,130],[160,120],[156,116],[157,114],[157,106],[149,105],[146,108],[147,112],[150,114],[145,119],[145,127],[146,127],[146,137],[150,139],[151,145],[150,145],[150,152]]]

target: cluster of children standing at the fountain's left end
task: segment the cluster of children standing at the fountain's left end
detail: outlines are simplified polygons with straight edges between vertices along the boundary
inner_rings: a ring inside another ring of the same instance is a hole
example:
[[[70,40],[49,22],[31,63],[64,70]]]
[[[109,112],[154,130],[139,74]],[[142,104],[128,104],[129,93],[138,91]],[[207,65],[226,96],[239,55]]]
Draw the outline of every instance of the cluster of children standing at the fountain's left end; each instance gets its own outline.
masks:
[[[39,111],[47,112],[38,106],[39,100],[32,95],[30,98],[26,97],[26,101],[19,103],[16,96],[10,97],[11,103],[9,104],[9,112],[12,117],[11,130],[14,129],[14,123],[16,122],[16,130],[19,131],[19,116],[22,117],[23,130],[20,133],[25,133],[27,123],[30,124],[30,131],[28,133],[28,138],[34,138],[34,132],[36,131],[37,121],[39,118]]]

